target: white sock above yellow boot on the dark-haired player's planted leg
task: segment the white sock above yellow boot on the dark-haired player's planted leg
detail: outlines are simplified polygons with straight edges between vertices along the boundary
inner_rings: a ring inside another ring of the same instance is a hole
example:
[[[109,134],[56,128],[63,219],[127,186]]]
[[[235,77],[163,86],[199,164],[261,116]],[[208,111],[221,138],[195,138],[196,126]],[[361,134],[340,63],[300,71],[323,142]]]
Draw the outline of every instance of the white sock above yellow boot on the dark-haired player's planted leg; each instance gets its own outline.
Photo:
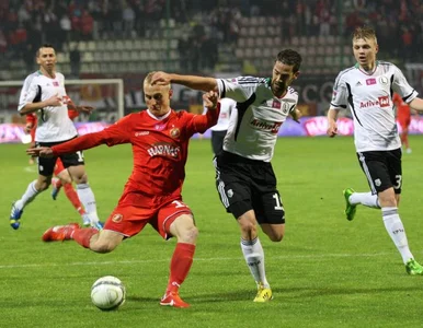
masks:
[[[241,249],[255,282],[262,283],[265,288],[270,288],[264,270],[264,251],[259,237],[253,241],[244,241],[241,238]]]

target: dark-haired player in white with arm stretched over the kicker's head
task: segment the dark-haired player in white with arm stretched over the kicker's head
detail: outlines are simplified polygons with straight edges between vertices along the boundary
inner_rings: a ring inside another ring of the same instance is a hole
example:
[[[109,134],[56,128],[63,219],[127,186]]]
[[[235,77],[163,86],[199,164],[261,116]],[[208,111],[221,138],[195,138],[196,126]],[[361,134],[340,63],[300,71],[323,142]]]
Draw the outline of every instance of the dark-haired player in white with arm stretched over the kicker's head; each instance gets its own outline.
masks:
[[[195,90],[218,91],[237,102],[230,116],[224,151],[215,159],[216,186],[227,211],[241,230],[241,249],[256,285],[254,302],[272,300],[258,224],[272,242],[285,233],[285,211],[276,189],[271,160],[277,132],[288,115],[295,119],[298,94],[289,87],[298,78],[301,56],[281,51],[272,78],[215,79],[158,72],[153,83],[178,83]]]

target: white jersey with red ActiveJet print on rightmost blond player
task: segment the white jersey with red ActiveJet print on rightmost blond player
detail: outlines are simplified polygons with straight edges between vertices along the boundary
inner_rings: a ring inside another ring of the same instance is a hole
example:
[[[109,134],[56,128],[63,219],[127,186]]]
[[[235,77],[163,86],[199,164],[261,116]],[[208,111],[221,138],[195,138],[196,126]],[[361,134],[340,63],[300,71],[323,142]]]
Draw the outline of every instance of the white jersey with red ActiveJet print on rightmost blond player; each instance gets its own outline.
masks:
[[[418,96],[401,70],[390,62],[376,61],[371,74],[356,65],[338,75],[330,109],[350,107],[354,117],[357,152],[389,151],[401,147],[392,103],[393,92],[399,93],[407,103]]]

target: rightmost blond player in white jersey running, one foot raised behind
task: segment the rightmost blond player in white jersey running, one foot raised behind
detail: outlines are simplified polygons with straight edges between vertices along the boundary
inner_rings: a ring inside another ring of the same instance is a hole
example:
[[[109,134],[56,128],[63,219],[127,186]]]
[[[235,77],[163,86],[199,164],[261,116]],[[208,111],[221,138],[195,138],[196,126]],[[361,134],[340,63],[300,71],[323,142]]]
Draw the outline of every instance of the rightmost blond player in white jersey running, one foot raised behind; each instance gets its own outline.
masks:
[[[411,108],[423,110],[423,99],[393,63],[376,60],[378,45],[375,31],[356,28],[353,51],[357,63],[336,78],[328,112],[328,134],[336,136],[336,116],[348,107],[354,117],[354,140],[359,165],[370,192],[343,191],[345,214],[353,220],[356,206],[381,209],[385,227],[401,254],[409,274],[423,274],[423,267],[410,251],[404,227],[398,213],[402,186],[401,141],[398,134],[393,92]]]

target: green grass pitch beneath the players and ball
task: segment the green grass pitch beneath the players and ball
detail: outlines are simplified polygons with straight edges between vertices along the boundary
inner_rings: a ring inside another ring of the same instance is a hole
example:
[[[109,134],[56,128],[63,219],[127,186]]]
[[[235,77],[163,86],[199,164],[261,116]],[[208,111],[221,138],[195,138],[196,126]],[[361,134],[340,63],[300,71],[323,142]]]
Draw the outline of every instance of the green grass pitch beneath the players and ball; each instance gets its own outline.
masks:
[[[423,137],[403,155],[400,207],[411,250],[423,261]],[[273,166],[286,211],[286,236],[272,243],[260,232],[274,300],[252,302],[255,284],[239,246],[239,229],[214,186],[209,140],[193,140],[184,201],[199,237],[181,289],[191,308],[159,305],[175,241],[150,227],[112,254],[75,242],[44,244],[55,224],[79,222],[64,194],[48,191],[24,211],[19,231],[9,226],[11,202],[35,179],[25,147],[0,145],[0,327],[423,327],[423,277],[409,277],[385,231],[379,210],[358,208],[345,220],[342,190],[368,190],[352,138],[282,138]],[[84,152],[99,214],[115,207],[132,171],[128,145]],[[127,300],[116,312],[91,304],[90,288],[116,276]]]

